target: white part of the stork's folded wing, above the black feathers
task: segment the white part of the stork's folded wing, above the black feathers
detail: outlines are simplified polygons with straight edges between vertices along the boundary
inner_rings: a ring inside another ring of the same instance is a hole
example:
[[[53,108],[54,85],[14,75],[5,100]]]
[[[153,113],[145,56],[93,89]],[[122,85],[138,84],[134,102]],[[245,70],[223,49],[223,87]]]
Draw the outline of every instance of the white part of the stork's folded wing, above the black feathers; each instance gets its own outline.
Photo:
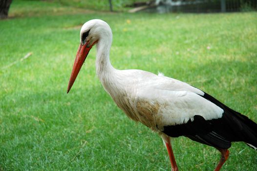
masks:
[[[223,109],[203,98],[204,92],[187,83],[164,76],[145,73],[139,80],[136,99],[159,106],[161,127],[193,121],[195,115],[205,120],[222,116]]]

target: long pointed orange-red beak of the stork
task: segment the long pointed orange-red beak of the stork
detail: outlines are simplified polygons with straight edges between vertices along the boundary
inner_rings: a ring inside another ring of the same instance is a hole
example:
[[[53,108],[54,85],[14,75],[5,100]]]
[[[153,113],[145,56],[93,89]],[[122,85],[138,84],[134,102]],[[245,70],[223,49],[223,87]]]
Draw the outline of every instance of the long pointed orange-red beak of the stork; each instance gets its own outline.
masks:
[[[72,68],[72,71],[70,74],[67,93],[69,92],[70,88],[72,87],[73,83],[75,82],[83,63],[86,60],[86,56],[93,45],[94,45],[94,43],[91,46],[87,47],[87,43],[84,45],[80,44],[77,55],[76,55],[76,59],[75,59],[75,62],[73,64],[73,68]]]

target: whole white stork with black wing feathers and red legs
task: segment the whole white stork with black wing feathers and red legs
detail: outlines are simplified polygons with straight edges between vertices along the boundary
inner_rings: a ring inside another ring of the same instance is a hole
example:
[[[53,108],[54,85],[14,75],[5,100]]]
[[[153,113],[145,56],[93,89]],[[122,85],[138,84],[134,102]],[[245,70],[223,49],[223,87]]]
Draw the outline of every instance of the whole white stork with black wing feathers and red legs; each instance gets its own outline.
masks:
[[[231,142],[243,141],[257,149],[255,122],[187,83],[142,70],[115,69],[109,61],[111,43],[112,32],[105,21],[90,20],[82,26],[67,93],[96,44],[96,71],[103,87],[129,118],[160,134],[172,171],[178,167],[170,137],[186,136],[219,150],[215,171],[228,159]]]

